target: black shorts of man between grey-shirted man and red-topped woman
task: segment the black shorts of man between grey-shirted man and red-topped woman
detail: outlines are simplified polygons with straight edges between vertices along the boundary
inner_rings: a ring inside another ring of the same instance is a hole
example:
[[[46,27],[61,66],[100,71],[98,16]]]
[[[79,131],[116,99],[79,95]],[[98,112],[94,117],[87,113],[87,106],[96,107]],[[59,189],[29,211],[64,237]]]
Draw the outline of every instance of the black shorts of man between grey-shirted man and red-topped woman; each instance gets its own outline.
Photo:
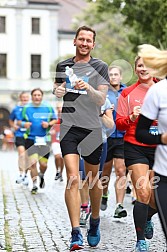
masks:
[[[106,162],[111,161],[113,158],[124,159],[124,140],[123,140],[123,138],[108,137]]]

